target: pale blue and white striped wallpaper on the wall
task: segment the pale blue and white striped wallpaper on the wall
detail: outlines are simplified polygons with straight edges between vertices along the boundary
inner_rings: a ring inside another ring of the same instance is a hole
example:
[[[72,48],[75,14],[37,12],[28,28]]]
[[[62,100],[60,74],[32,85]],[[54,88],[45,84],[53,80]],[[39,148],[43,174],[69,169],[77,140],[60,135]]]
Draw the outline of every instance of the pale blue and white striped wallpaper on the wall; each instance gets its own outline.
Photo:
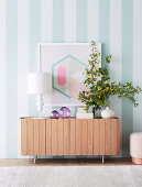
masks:
[[[141,0],[0,0],[1,158],[19,156],[18,118],[36,114],[26,74],[36,70],[39,42],[101,42],[102,55],[113,54],[111,78],[142,87],[141,7]],[[138,100],[134,109],[125,99],[110,99],[121,118],[121,155],[129,153],[129,134],[142,131],[142,96]]]

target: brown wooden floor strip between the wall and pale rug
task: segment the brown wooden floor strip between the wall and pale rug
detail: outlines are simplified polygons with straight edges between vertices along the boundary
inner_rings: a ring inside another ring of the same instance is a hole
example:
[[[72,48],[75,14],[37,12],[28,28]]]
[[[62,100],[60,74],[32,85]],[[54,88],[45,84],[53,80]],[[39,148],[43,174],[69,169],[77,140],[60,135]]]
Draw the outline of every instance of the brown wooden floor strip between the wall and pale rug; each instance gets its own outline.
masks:
[[[33,158],[0,160],[0,167],[11,166],[114,166],[114,165],[134,165],[129,157],[105,158],[101,163],[100,158],[39,158],[37,163],[33,163]]]

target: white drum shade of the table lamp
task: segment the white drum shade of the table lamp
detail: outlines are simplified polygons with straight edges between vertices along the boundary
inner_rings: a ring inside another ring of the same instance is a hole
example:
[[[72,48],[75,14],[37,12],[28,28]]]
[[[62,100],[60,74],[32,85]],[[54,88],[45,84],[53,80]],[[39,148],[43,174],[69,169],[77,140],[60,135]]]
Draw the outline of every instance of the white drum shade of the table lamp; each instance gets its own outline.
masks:
[[[47,94],[48,74],[29,73],[28,75],[28,94]]]

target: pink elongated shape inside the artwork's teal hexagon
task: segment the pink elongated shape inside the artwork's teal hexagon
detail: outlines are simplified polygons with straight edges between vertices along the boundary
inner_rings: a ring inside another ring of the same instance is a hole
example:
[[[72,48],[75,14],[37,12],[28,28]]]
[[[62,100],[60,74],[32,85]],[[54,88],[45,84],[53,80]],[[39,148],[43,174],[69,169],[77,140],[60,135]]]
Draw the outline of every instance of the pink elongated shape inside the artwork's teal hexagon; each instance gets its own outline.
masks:
[[[57,82],[59,86],[64,86],[66,84],[66,69],[63,66],[59,66],[57,69]]]

